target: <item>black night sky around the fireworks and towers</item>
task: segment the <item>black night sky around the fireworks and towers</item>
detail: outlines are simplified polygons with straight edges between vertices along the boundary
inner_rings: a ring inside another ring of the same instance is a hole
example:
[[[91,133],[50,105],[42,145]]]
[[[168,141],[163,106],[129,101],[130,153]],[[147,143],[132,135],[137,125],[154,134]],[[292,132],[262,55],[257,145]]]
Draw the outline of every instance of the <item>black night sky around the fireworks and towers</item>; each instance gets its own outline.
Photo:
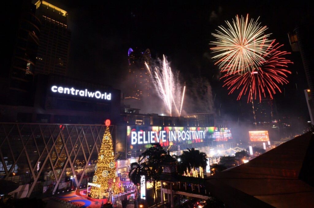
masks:
[[[237,117],[237,95],[228,95],[219,81],[208,43],[211,33],[224,21],[249,14],[267,25],[272,39],[292,52],[288,32],[301,23],[312,21],[310,3],[306,1],[206,1],[208,3],[169,3],[168,1],[48,1],[68,11],[72,32],[69,73],[74,78],[121,89],[127,76],[128,48],[149,48],[152,57],[165,54],[171,67],[179,70],[187,83],[191,77],[206,77],[216,94],[214,105],[231,119]],[[158,2],[158,3],[157,3]],[[308,1],[309,2],[309,1]],[[289,84],[275,99],[280,115],[290,114],[309,119],[304,89],[305,73],[299,52],[287,57],[294,64],[289,69]],[[244,98],[246,99],[246,97]]]

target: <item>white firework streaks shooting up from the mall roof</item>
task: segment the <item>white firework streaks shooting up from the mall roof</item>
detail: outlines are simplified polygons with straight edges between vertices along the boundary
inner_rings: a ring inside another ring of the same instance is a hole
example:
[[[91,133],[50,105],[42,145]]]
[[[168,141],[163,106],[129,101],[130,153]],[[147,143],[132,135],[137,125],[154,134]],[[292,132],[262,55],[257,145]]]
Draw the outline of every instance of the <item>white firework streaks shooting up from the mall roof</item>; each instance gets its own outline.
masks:
[[[160,66],[154,67],[154,71],[149,68],[147,63],[145,63],[145,65],[158,96],[163,100],[170,116],[172,116],[173,110],[176,110],[176,113],[180,116],[184,100],[185,86],[181,86],[178,74],[172,73],[165,56],[163,56],[163,60],[160,61]],[[180,104],[180,101],[181,107],[179,111],[177,106]]]

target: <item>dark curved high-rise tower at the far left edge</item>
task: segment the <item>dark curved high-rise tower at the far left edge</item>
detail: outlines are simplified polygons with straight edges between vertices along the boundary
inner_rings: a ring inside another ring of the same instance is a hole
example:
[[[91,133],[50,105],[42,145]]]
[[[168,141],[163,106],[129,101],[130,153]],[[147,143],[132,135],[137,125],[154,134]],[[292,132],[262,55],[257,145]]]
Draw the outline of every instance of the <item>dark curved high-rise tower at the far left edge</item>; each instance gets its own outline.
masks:
[[[41,22],[35,16],[36,7],[30,0],[14,2],[10,8],[8,26],[3,26],[0,103],[30,105],[36,53]]]

